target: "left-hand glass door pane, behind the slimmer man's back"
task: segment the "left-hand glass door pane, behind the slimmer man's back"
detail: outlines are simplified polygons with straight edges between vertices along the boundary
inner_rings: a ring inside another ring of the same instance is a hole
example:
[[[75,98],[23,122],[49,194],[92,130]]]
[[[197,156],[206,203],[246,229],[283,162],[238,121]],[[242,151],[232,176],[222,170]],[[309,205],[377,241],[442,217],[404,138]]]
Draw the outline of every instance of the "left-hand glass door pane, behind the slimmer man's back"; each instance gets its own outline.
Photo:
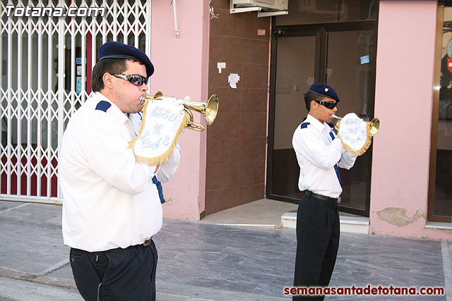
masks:
[[[292,134],[306,110],[303,94],[314,82],[316,36],[281,37],[277,52],[271,194],[301,199]]]

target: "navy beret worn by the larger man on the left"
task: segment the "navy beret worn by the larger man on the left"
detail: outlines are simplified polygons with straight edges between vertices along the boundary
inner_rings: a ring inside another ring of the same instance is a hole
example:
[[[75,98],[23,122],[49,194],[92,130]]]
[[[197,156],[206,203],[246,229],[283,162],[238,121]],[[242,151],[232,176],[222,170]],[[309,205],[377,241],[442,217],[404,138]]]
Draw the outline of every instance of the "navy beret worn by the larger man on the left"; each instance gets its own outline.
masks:
[[[102,59],[130,59],[139,61],[146,66],[148,77],[154,73],[153,63],[150,62],[150,59],[143,51],[121,42],[107,42],[103,44],[99,48],[99,61]]]

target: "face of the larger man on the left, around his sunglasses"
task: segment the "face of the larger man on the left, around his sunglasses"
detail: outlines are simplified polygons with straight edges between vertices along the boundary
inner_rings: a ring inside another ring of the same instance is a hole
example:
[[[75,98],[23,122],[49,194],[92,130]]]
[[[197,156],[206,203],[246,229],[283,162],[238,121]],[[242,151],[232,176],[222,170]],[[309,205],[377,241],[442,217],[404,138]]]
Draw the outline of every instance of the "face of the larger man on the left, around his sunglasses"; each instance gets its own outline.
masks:
[[[146,77],[146,67],[137,61],[127,61],[127,69],[122,74],[141,75]],[[146,97],[148,86],[133,85],[128,80],[112,77],[114,81],[114,94],[117,99],[117,106],[123,113],[136,113],[143,108],[144,101],[141,97]]]

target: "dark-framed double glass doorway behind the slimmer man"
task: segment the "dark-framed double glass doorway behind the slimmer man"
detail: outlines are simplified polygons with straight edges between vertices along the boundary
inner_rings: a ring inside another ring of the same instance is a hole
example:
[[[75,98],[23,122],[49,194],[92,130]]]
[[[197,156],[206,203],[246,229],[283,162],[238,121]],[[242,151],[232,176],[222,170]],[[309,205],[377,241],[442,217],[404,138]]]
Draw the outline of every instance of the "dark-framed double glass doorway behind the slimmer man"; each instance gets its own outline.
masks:
[[[374,117],[376,20],[273,27],[266,196],[298,203],[295,128],[307,116],[304,93],[314,82],[338,92],[338,116]],[[340,211],[369,216],[371,147],[349,171],[340,169]]]

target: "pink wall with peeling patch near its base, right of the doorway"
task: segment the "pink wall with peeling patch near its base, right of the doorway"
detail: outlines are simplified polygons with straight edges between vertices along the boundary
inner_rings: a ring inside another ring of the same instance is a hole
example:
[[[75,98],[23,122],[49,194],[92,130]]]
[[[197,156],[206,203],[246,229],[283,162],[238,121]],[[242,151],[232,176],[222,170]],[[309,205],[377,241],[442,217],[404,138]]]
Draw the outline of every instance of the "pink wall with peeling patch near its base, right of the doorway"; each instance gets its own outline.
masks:
[[[436,1],[380,1],[369,233],[452,238],[426,229]]]

